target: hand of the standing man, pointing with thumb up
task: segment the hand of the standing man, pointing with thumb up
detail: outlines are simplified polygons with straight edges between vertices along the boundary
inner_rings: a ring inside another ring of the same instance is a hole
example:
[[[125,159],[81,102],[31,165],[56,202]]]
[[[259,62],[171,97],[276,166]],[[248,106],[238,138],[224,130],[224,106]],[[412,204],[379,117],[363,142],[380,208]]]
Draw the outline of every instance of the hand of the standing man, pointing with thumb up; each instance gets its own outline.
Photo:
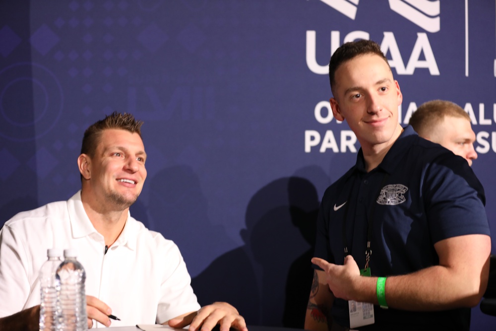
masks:
[[[345,257],[343,265],[335,265],[320,258],[313,258],[311,262],[325,272],[327,284],[334,297],[344,300],[356,299],[362,277],[360,268],[351,255]]]

